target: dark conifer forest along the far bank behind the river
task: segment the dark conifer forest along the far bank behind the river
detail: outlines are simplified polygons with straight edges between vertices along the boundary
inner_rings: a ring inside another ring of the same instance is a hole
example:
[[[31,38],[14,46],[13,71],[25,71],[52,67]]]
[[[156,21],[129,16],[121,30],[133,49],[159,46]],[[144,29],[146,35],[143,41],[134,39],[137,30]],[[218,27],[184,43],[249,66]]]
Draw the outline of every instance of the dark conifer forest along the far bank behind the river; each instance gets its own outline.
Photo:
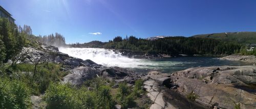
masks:
[[[231,55],[240,50],[242,45],[215,39],[194,37],[166,37],[158,40],[138,39],[134,36],[115,37],[103,48],[130,49],[145,53],[165,53],[168,55]]]

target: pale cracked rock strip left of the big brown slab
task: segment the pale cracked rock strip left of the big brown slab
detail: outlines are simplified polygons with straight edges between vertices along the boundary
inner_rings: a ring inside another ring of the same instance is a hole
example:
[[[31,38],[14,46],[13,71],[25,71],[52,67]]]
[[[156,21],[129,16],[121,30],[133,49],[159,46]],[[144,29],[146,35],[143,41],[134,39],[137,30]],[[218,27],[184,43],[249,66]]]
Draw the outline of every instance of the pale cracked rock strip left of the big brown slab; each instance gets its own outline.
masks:
[[[205,108],[200,106],[194,102],[188,101],[182,95],[173,92],[168,89],[170,82],[170,74],[160,73],[160,72],[149,72],[148,75],[145,76],[147,78],[144,81],[144,89],[148,92],[147,96],[153,101],[151,105],[151,109],[155,108]]]

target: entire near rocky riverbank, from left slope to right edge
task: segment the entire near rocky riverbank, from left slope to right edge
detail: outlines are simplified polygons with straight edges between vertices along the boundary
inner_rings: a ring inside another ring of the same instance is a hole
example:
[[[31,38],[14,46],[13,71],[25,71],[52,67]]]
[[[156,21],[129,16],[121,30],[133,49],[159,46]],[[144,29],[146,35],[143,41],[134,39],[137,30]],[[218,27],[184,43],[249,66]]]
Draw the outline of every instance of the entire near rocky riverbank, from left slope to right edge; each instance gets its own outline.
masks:
[[[38,44],[39,47],[24,48],[17,63],[61,64],[62,70],[69,72],[62,83],[80,86],[86,80],[101,76],[114,82],[112,88],[117,88],[122,81],[133,86],[136,79],[143,79],[146,95],[153,102],[150,108],[256,108],[256,66],[197,67],[173,74],[156,71],[138,74],[73,58],[54,46]],[[39,101],[32,99],[34,106]]]

